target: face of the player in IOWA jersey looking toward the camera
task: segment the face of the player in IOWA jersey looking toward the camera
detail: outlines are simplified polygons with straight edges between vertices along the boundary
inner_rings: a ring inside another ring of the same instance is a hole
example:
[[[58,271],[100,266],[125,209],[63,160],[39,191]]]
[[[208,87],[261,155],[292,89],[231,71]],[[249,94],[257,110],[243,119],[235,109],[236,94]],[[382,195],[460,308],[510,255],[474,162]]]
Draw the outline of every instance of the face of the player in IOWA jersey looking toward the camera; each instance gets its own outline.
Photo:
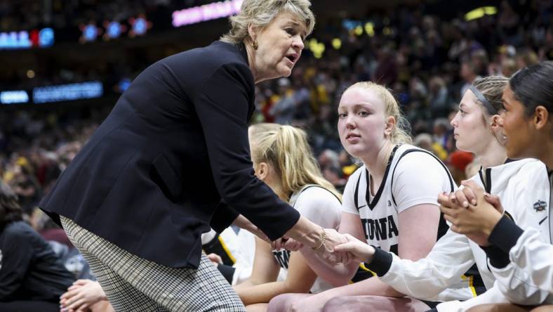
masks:
[[[378,152],[385,143],[385,104],[371,89],[354,87],[342,95],[338,106],[338,133],[350,155]]]

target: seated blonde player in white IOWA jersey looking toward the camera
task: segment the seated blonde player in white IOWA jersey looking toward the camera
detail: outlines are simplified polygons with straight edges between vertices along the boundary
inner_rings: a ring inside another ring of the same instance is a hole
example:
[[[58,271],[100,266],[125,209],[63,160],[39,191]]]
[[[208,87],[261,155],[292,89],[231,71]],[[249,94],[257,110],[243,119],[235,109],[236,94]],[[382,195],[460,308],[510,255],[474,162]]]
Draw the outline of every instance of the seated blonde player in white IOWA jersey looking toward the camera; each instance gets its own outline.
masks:
[[[350,86],[340,100],[338,114],[342,145],[364,164],[347,181],[339,231],[400,258],[426,256],[446,230],[437,194],[455,188],[448,170],[437,157],[409,144],[397,101],[385,87],[370,82]],[[360,261],[332,266],[317,256],[306,257],[319,276],[341,287],[321,294],[279,296],[269,304],[269,311],[429,308],[422,301],[400,298],[405,294],[378,278],[347,285]],[[460,276],[456,287],[435,300],[472,297]]]

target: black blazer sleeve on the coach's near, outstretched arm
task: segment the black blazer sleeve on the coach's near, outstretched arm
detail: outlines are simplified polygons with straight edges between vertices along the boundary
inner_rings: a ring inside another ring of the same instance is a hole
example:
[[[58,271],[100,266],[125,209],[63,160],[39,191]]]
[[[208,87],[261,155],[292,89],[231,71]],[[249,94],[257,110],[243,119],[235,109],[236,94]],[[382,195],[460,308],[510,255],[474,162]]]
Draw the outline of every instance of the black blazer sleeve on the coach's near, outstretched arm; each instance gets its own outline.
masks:
[[[246,65],[221,66],[206,79],[194,99],[194,108],[222,200],[276,240],[298,222],[300,214],[254,175],[248,143],[251,79]]]

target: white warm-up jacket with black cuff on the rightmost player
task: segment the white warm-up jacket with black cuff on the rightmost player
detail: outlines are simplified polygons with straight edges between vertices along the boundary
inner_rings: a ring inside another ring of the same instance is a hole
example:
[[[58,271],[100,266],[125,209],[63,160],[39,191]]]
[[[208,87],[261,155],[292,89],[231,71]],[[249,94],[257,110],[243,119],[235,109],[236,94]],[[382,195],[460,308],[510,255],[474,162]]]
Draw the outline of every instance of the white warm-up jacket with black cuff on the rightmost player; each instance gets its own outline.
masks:
[[[543,173],[528,174],[526,183],[537,179],[542,181]],[[528,188],[526,192],[519,193],[521,197],[528,197],[528,204],[502,203],[507,210],[511,207],[524,209],[535,216],[535,221],[519,223],[514,220],[515,225],[504,216],[489,238],[493,245],[508,253],[511,262],[507,266],[496,268],[490,261],[490,268],[498,278],[502,294],[515,304],[553,303],[552,172],[549,171],[548,175],[548,181],[540,187]]]

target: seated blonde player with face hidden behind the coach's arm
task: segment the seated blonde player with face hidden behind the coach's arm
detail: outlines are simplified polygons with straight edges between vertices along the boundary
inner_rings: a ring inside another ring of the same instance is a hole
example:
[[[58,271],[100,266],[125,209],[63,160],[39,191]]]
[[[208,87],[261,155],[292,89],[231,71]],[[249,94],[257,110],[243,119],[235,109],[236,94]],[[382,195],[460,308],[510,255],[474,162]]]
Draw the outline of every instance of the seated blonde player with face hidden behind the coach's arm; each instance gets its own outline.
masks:
[[[340,224],[340,195],[321,175],[304,131],[293,126],[256,124],[249,129],[255,175],[281,200],[324,228]],[[234,287],[248,311],[265,311],[270,299],[286,292],[321,292],[331,286],[317,278],[300,252],[255,242],[251,278]],[[303,247],[306,253],[311,248]],[[286,279],[276,281],[280,270]]]

